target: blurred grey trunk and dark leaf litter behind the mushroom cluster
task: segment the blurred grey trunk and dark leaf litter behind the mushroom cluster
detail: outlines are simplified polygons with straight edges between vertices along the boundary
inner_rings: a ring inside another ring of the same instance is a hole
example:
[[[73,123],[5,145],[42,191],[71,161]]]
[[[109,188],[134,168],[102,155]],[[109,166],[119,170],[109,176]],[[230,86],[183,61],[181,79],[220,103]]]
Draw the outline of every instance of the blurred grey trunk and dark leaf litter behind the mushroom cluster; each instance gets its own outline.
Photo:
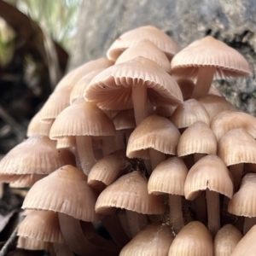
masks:
[[[255,13],[254,0],[0,0],[0,155],[26,137],[64,73],[137,26],[157,26],[181,48],[212,35],[240,51],[253,74],[214,85],[255,115]]]

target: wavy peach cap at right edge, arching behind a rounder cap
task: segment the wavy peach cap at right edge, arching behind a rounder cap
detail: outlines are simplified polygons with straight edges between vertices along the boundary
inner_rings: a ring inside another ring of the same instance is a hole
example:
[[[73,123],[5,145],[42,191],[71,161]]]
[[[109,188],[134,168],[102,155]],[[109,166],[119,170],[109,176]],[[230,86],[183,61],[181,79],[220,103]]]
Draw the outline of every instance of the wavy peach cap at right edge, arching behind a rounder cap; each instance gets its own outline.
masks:
[[[248,134],[256,138],[256,118],[248,113],[223,111],[212,119],[211,128],[218,140],[236,128],[244,128]]]

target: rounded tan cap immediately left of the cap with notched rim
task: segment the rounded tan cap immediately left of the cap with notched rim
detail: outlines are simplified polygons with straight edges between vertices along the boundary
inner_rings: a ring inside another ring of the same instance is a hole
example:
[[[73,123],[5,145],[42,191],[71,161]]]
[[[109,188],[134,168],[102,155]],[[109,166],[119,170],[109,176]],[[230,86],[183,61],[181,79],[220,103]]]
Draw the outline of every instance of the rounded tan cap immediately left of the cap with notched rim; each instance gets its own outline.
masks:
[[[154,168],[148,180],[148,193],[153,195],[184,195],[188,168],[183,160],[170,157]]]

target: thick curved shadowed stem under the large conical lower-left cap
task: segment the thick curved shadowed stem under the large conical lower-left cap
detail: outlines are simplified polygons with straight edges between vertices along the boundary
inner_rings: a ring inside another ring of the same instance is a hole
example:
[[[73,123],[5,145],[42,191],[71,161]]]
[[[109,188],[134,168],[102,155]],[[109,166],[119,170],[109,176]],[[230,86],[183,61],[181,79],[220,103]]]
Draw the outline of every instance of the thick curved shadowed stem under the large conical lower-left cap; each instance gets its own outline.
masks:
[[[89,230],[88,234],[84,236],[79,219],[68,216],[67,214],[58,212],[61,232],[67,246],[74,252],[81,256],[93,255],[119,255],[119,249],[114,245],[111,247],[102,246],[102,242],[96,245],[90,242],[87,238],[92,234]],[[86,231],[86,230],[85,230]],[[105,243],[105,242],[104,242]]]

